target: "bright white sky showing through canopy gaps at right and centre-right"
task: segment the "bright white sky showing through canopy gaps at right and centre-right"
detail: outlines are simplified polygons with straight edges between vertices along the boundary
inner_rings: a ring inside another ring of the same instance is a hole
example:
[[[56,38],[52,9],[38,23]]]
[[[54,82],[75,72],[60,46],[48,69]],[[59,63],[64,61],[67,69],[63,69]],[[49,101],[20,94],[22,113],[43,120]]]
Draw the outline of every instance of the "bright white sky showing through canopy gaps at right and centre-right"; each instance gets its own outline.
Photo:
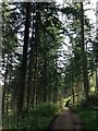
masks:
[[[62,4],[63,2],[65,3],[65,0],[57,0],[58,4]],[[84,9],[86,10],[85,14],[90,20],[90,23],[94,24],[95,29],[96,29],[96,2],[97,2],[97,0],[95,0],[95,1],[90,0],[90,3],[84,2]],[[61,21],[63,21],[62,16],[60,16],[60,19],[61,19]],[[69,37],[65,36],[64,43],[65,44],[69,43]],[[70,45],[70,43],[69,43],[69,45]],[[62,61],[61,63],[63,63],[63,61],[64,61],[63,52],[71,53],[71,49],[68,46],[63,45],[60,48],[60,50],[62,50],[62,57],[60,57],[59,60]],[[63,68],[64,66],[60,64],[60,67]]]

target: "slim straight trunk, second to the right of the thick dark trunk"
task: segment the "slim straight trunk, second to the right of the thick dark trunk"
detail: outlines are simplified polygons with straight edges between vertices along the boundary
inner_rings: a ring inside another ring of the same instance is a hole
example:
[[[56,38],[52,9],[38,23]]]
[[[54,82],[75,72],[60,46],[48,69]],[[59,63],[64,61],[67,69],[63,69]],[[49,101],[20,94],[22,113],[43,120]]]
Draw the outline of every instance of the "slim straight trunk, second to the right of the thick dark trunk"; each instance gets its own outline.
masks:
[[[38,11],[38,3],[35,5],[35,41],[34,41],[34,48],[35,48],[35,71],[34,71],[34,88],[33,88],[33,104],[37,105],[37,81],[38,81],[38,44],[39,44],[39,24],[38,19],[40,17],[39,11]]]

